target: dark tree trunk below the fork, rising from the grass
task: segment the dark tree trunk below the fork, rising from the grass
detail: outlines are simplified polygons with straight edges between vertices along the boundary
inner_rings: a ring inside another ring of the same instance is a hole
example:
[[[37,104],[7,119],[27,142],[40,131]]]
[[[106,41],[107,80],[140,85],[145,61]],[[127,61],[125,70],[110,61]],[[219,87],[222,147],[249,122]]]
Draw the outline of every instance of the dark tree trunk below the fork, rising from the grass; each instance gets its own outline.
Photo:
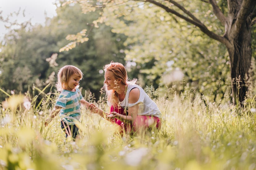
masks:
[[[252,48],[251,48],[251,28],[246,25],[241,29],[237,37],[231,42],[228,48],[230,59],[230,71],[232,78],[233,104],[242,103],[245,100],[248,87],[248,71],[251,66]]]

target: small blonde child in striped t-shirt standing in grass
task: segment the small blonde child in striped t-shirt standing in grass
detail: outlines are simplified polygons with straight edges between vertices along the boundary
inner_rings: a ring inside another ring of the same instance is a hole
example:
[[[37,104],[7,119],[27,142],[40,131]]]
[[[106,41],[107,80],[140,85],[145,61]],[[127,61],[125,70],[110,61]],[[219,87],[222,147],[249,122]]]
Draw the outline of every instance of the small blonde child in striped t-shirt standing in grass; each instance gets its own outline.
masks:
[[[61,93],[49,118],[45,120],[45,126],[60,112],[62,130],[66,133],[66,137],[72,135],[75,139],[79,135],[79,129],[75,123],[80,119],[80,105],[88,106],[89,104],[83,99],[78,89],[83,73],[79,68],[68,65],[58,71],[57,77],[56,87]]]

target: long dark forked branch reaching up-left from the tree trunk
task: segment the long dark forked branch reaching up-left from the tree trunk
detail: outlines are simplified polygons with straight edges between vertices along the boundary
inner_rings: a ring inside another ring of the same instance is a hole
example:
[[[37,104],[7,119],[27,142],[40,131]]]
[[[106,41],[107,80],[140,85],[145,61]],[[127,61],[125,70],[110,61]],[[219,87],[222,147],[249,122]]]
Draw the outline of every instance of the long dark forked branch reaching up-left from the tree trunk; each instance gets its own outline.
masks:
[[[207,34],[209,37],[211,37],[223,44],[227,45],[227,43],[229,43],[226,38],[219,36],[219,35],[215,34],[214,32],[208,30],[207,27],[200,20],[198,20],[193,14],[191,14],[183,6],[179,5],[177,2],[175,2],[173,0],[169,0],[169,2],[172,3],[173,5],[177,6],[179,9],[181,9],[185,14],[187,14],[192,19],[180,14],[176,10],[170,9],[169,7],[161,4],[160,2],[156,2],[155,0],[144,0],[143,2],[150,2],[152,4],[155,4],[156,6],[159,6],[160,8],[164,9],[166,12],[174,14],[177,17],[184,19],[185,21],[197,26],[203,33]]]

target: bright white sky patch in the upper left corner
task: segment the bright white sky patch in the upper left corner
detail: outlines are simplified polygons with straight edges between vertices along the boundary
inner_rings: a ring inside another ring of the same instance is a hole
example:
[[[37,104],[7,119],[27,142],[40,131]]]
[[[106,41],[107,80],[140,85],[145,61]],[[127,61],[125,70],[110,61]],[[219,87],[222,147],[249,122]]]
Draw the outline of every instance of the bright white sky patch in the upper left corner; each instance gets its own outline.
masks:
[[[13,16],[11,19],[18,22],[27,21],[31,18],[32,24],[45,22],[45,12],[47,17],[56,15],[56,6],[53,5],[55,0],[0,0],[0,11],[2,16],[7,17],[12,12],[17,12],[20,8],[19,16]],[[23,17],[23,10],[25,10],[25,17]],[[0,37],[2,38],[6,33],[4,23],[0,21]]]

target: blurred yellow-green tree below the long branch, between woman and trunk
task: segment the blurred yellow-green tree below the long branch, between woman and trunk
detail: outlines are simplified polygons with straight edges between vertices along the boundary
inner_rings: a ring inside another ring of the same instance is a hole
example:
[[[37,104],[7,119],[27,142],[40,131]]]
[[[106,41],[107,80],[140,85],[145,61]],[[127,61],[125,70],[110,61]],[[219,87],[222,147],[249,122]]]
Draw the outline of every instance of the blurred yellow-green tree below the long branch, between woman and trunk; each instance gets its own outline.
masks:
[[[177,22],[177,18],[152,4],[133,8],[123,18],[115,18],[111,12],[105,15],[111,18],[106,19],[106,24],[113,31],[128,36],[126,60],[136,62],[135,68],[138,67],[143,79],[140,84],[144,82],[155,88],[174,85],[180,91],[184,87],[182,80],[194,90],[206,92],[215,102],[223,98],[230,82],[228,53],[223,44],[191,28],[185,21]],[[203,12],[198,15],[205,17]],[[125,24],[118,24],[121,21]]]

